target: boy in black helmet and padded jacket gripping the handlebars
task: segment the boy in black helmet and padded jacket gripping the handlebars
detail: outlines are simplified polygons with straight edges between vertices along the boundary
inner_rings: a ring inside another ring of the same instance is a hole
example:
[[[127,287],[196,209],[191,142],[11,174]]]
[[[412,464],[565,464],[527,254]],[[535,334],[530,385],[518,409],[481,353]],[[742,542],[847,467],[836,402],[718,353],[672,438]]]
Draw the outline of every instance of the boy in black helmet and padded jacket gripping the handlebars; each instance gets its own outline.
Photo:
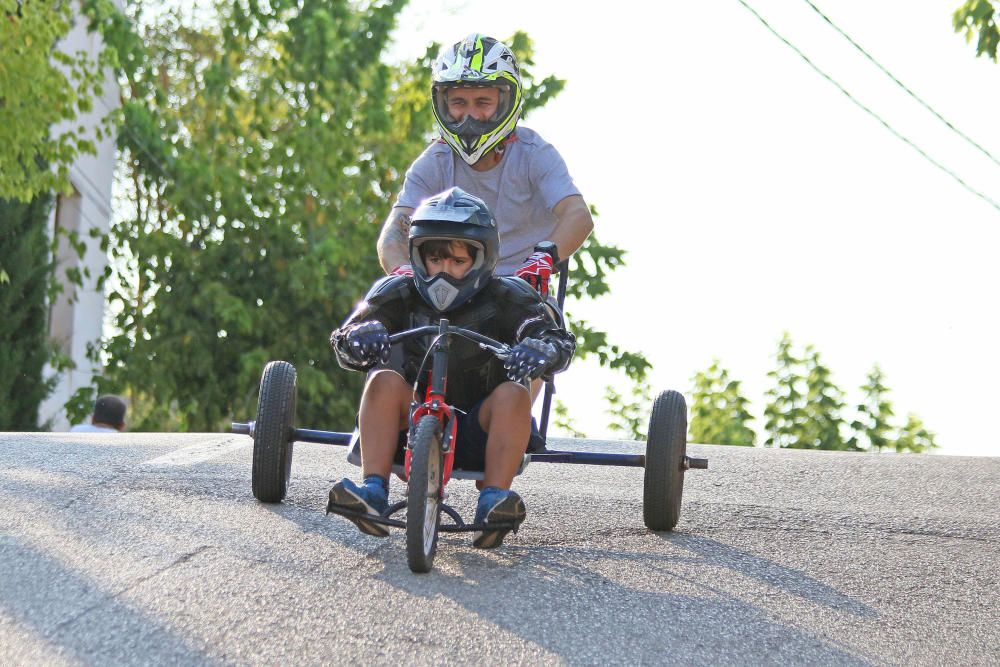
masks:
[[[434,324],[447,316],[456,326],[513,346],[506,362],[476,343],[452,342],[447,399],[459,412],[455,467],[481,469],[483,485],[475,523],[520,523],[524,501],[510,490],[532,436],[527,383],[560,372],[576,349],[538,292],[519,278],[494,277],[500,254],[496,222],[486,204],[460,188],[425,200],[409,230],[413,276],[377,282],[365,301],[330,336],[343,368],[368,371],[388,362],[389,334]],[[428,339],[404,343],[401,372],[373,372],[361,397],[358,426],[364,482],[343,479],[330,490],[330,505],[379,515],[388,505],[389,474],[406,442],[413,384]],[[537,435],[537,434],[536,434]],[[369,535],[384,526],[352,519]],[[493,548],[506,530],[477,533],[473,545]]]

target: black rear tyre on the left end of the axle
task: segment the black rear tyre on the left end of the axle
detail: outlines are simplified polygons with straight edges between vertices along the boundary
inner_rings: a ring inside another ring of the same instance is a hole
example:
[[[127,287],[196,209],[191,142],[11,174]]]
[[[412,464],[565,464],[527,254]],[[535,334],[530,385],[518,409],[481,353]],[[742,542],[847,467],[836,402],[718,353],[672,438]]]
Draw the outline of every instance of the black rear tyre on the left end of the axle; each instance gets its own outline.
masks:
[[[253,435],[252,485],[262,503],[280,503],[292,473],[292,429],[295,428],[295,367],[272,361],[264,367]]]

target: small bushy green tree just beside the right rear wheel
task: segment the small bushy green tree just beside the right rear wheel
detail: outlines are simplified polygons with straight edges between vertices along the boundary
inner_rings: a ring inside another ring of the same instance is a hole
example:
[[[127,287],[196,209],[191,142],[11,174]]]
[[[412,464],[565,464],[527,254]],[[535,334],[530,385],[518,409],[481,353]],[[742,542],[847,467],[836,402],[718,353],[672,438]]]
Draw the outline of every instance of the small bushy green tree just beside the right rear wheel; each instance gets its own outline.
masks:
[[[730,380],[729,371],[713,359],[691,383],[690,440],[753,447],[756,436],[748,426],[753,420],[747,409],[750,400],[740,393],[740,381]]]

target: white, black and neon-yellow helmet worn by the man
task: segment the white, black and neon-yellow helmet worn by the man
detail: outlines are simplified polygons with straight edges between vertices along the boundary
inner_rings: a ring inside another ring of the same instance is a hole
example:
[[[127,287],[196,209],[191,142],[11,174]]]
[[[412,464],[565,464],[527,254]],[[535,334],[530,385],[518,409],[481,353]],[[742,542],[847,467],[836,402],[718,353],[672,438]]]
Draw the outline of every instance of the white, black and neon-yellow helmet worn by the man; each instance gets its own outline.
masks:
[[[444,139],[468,164],[495,148],[514,131],[521,115],[521,72],[507,45],[473,33],[441,50],[434,62],[431,107]],[[497,88],[500,100],[493,117],[478,121],[471,116],[455,121],[448,114],[448,89]]]

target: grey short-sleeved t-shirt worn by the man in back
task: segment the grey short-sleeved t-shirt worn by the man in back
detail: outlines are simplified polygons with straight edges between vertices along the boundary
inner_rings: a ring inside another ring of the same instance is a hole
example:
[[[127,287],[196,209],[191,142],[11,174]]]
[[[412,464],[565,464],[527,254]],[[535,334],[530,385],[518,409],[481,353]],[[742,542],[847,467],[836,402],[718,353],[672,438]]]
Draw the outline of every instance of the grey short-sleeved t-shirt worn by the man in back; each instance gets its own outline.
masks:
[[[396,206],[416,208],[424,199],[458,186],[490,207],[500,228],[498,275],[513,273],[535,244],[551,238],[555,205],[580,191],[551,144],[518,126],[500,164],[476,171],[448,144],[434,142],[406,172]],[[501,196],[502,193],[502,196]]]

